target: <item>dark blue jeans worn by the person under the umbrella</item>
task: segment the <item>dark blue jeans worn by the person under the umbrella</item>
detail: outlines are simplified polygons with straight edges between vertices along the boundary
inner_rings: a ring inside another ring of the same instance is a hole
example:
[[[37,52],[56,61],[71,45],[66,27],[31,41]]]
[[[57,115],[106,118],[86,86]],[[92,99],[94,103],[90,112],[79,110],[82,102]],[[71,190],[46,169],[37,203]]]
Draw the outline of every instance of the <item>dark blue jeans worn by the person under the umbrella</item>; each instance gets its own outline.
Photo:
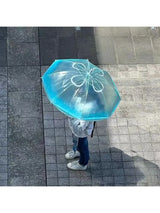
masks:
[[[73,135],[73,150],[80,152],[79,164],[85,166],[89,161],[89,149],[88,149],[88,139],[77,138]]]

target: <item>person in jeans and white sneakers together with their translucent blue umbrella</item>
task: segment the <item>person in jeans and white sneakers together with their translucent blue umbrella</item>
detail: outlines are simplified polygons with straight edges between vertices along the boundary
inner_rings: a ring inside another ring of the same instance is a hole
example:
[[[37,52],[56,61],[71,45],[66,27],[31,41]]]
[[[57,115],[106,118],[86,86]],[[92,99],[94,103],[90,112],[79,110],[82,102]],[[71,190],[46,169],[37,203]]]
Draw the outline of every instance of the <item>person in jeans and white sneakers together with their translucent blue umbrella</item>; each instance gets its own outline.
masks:
[[[88,139],[94,121],[109,118],[121,98],[109,73],[88,59],[59,59],[42,76],[50,102],[69,117],[73,150],[66,159],[80,157],[67,164],[69,169],[85,170],[89,161]]]

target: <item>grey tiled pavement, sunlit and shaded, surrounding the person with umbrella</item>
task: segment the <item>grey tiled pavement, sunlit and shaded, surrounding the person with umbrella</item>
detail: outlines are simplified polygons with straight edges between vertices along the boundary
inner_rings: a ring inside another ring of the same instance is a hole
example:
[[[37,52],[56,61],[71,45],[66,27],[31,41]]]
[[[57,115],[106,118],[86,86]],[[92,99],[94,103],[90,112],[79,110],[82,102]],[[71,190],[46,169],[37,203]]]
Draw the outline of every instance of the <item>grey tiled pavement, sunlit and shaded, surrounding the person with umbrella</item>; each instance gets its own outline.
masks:
[[[150,28],[0,28],[0,185],[160,185],[159,40]],[[41,85],[55,58],[89,58],[122,98],[97,122],[87,171],[67,169],[71,132]]]

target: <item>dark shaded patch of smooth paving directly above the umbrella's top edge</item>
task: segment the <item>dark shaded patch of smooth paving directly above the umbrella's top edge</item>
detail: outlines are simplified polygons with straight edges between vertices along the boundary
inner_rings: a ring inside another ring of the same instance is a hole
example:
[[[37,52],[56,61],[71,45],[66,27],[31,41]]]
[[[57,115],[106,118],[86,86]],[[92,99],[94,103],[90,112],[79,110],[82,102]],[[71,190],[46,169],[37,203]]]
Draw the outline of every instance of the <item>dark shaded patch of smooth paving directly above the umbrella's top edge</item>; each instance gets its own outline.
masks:
[[[40,65],[82,58],[98,64],[93,27],[39,27]]]

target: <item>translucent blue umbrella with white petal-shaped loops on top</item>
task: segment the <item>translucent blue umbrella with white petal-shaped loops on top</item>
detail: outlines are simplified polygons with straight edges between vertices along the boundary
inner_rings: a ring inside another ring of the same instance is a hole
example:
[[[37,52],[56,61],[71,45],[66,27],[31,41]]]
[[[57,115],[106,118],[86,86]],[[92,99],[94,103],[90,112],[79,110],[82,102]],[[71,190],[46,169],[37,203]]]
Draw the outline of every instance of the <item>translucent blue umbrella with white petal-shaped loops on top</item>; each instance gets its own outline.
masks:
[[[108,72],[87,59],[55,60],[42,82],[52,104],[81,120],[109,118],[121,100]]]

